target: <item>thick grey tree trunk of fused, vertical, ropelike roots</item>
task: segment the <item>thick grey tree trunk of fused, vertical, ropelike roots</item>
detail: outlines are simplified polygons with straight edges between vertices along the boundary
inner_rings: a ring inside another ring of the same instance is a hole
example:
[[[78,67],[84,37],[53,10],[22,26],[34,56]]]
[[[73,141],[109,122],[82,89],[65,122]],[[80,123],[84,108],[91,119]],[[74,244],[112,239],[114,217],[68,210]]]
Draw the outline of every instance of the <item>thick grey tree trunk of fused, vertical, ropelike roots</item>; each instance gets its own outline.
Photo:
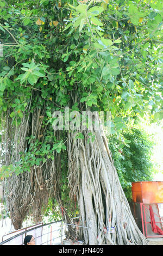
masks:
[[[67,147],[70,196],[77,194],[85,243],[148,245],[131,214],[102,126],[88,143],[89,132],[83,132],[84,139],[70,133]]]

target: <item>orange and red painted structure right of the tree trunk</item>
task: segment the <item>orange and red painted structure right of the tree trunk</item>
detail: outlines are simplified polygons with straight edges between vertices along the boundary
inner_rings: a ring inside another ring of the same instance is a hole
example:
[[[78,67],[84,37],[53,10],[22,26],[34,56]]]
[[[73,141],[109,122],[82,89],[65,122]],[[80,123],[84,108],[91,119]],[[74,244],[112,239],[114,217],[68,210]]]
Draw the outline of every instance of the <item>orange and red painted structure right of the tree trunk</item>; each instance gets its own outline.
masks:
[[[138,220],[140,212],[143,235],[163,237],[162,216],[158,208],[158,204],[163,203],[163,181],[133,182],[132,194],[134,217]]]

